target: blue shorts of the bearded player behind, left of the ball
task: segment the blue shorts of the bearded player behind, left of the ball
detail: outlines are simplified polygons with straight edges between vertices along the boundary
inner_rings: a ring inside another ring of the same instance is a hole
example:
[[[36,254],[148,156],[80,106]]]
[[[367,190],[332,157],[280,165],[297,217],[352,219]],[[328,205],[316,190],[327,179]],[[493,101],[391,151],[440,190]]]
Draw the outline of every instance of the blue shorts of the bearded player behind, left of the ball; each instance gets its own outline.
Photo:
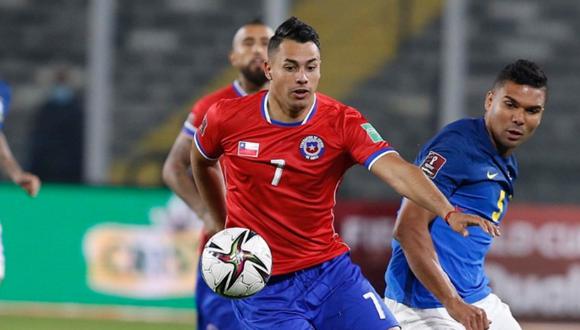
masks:
[[[237,330],[239,322],[234,315],[232,300],[213,292],[203,280],[201,263],[197,265],[195,286],[198,330]]]

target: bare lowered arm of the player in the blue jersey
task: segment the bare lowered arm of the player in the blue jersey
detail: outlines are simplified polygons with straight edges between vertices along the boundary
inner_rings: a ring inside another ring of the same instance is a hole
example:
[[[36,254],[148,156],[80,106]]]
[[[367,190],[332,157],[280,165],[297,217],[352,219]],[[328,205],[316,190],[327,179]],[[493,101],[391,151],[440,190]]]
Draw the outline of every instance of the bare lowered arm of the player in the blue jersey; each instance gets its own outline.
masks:
[[[485,311],[466,304],[441,268],[429,233],[429,223],[435,217],[434,213],[404,199],[394,237],[401,244],[413,274],[445,306],[451,317],[466,329],[487,329],[489,321]]]

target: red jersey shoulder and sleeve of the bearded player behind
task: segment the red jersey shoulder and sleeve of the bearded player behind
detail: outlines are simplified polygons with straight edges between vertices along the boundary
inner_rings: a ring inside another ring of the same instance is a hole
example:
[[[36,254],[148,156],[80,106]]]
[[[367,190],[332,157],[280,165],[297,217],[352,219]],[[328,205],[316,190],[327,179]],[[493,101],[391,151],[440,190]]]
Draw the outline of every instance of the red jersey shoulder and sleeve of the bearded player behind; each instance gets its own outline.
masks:
[[[212,104],[221,99],[233,99],[246,95],[248,95],[246,91],[244,91],[242,86],[240,86],[240,83],[235,80],[231,85],[218,89],[217,91],[202,97],[195,102],[193,107],[191,107],[191,116],[189,116],[183,123],[183,133],[189,135],[193,139],[196,129],[201,124],[201,120]]]

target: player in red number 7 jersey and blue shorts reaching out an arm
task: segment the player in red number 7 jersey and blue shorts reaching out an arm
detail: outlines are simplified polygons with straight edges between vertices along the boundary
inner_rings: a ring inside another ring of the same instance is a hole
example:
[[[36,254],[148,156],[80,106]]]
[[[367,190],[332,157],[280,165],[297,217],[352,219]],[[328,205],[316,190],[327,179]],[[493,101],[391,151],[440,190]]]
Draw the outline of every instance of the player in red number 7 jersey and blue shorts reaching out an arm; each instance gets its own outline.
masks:
[[[210,220],[249,228],[272,250],[267,286],[233,300],[243,329],[398,327],[334,231],[336,190],[356,163],[432,212],[496,233],[456,211],[357,110],[317,93],[320,66],[316,31],[288,19],[268,44],[270,90],[214,104],[195,135],[192,170]]]

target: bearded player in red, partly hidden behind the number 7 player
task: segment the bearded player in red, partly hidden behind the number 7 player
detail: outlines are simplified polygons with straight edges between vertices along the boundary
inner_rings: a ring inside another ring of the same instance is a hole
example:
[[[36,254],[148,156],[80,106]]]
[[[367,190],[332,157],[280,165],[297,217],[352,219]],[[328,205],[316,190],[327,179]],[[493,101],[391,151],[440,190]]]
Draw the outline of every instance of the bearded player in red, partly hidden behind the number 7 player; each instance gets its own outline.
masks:
[[[163,166],[165,183],[201,219],[204,218],[206,208],[190,172],[189,155],[193,136],[213,103],[221,99],[252,94],[265,88],[268,80],[264,76],[263,63],[267,56],[268,40],[273,33],[272,29],[260,20],[248,22],[238,29],[229,56],[231,65],[239,71],[238,78],[232,84],[206,95],[194,104]],[[213,232],[215,229],[205,227],[200,239],[201,247],[205,245],[208,233]],[[201,277],[199,267],[197,278],[195,288],[197,328],[238,329],[231,302],[207,286]]]

